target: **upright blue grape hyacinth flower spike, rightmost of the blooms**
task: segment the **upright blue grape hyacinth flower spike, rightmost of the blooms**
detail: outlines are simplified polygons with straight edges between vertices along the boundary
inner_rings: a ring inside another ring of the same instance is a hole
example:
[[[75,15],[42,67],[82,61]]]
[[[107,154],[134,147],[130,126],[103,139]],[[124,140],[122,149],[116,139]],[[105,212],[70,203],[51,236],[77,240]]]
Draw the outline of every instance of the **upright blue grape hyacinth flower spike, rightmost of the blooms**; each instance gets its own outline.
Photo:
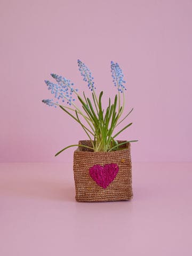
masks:
[[[114,85],[117,86],[118,91],[123,92],[124,90],[126,90],[124,86],[125,81],[123,80],[123,71],[119,67],[118,63],[111,61],[111,73]]]

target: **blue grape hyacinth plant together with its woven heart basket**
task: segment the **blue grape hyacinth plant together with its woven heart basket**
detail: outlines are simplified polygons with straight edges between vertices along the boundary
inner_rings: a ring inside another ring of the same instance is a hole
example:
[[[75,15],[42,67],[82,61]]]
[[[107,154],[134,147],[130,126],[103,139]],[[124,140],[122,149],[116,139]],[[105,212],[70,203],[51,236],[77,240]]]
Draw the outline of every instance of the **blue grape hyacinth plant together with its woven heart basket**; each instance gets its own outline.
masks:
[[[81,202],[119,201],[132,198],[132,167],[131,141],[116,140],[117,136],[127,127],[114,132],[133,109],[123,118],[125,107],[125,81],[118,63],[111,61],[111,75],[118,93],[113,102],[109,98],[106,110],[102,108],[102,95],[95,92],[94,78],[90,69],[78,60],[78,68],[91,90],[91,99],[85,92],[79,94],[74,84],[65,77],[51,74],[56,83],[45,81],[49,90],[57,100],[67,102],[67,105],[46,99],[48,106],[59,106],[66,114],[81,125],[87,135],[87,140],[80,140],[76,145],[70,145],[60,150],[55,156],[69,147],[78,147],[74,151],[74,180],[76,200]],[[75,97],[81,107],[76,105]]]

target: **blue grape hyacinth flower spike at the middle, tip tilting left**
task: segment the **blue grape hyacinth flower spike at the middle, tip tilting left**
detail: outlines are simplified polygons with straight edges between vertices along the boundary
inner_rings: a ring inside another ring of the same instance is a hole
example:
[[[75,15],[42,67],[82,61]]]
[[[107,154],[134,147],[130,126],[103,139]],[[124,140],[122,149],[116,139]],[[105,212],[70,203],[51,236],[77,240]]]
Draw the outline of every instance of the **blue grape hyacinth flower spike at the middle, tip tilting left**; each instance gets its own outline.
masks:
[[[92,77],[92,73],[90,69],[81,60],[77,60],[77,63],[78,63],[79,71],[83,76],[83,81],[87,82],[89,89],[93,91],[96,88],[94,87],[94,81],[93,81],[94,77]]]

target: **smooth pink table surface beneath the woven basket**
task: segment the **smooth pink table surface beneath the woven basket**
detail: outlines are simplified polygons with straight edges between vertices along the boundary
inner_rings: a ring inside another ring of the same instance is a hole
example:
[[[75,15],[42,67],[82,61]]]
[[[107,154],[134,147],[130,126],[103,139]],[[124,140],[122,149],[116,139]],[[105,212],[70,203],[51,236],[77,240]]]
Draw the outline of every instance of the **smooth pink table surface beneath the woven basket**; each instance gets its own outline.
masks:
[[[78,203],[72,164],[0,165],[0,255],[192,255],[192,163],[133,163],[132,201]]]

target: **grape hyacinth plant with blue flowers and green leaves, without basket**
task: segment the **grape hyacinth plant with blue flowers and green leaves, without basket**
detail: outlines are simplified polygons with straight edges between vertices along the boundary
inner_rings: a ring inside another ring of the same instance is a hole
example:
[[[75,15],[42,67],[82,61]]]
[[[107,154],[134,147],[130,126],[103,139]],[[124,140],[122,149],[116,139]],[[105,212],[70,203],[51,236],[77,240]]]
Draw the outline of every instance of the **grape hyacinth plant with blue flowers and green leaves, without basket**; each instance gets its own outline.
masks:
[[[78,60],[78,67],[83,81],[87,82],[87,86],[92,92],[92,98],[88,98],[83,92],[83,95],[78,93],[77,89],[74,89],[74,83],[65,77],[51,74],[57,83],[45,81],[48,89],[54,94],[56,100],[67,102],[67,106],[61,105],[58,101],[53,99],[42,100],[48,106],[59,106],[66,114],[75,119],[75,121],[81,125],[85,131],[87,137],[91,141],[92,147],[82,145],[70,145],[61,149],[55,156],[59,155],[67,148],[74,146],[82,146],[93,151],[113,151],[120,150],[119,146],[124,145],[127,142],[135,142],[137,140],[124,141],[118,143],[116,137],[127,129],[132,123],[126,124],[123,129],[114,134],[116,127],[122,123],[132,112],[133,108],[123,118],[125,106],[125,81],[123,80],[123,72],[118,63],[111,61],[111,75],[113,83],[117,87],[118,94],[115,95],[113,101],[109,98],[108,107],[106,110],[102,107],[103,92],[100,92],[99,97],[95,93],[94,78],[90,69],[81,61]],[[81,108],[75,104],[75,98],[81,103]]]

